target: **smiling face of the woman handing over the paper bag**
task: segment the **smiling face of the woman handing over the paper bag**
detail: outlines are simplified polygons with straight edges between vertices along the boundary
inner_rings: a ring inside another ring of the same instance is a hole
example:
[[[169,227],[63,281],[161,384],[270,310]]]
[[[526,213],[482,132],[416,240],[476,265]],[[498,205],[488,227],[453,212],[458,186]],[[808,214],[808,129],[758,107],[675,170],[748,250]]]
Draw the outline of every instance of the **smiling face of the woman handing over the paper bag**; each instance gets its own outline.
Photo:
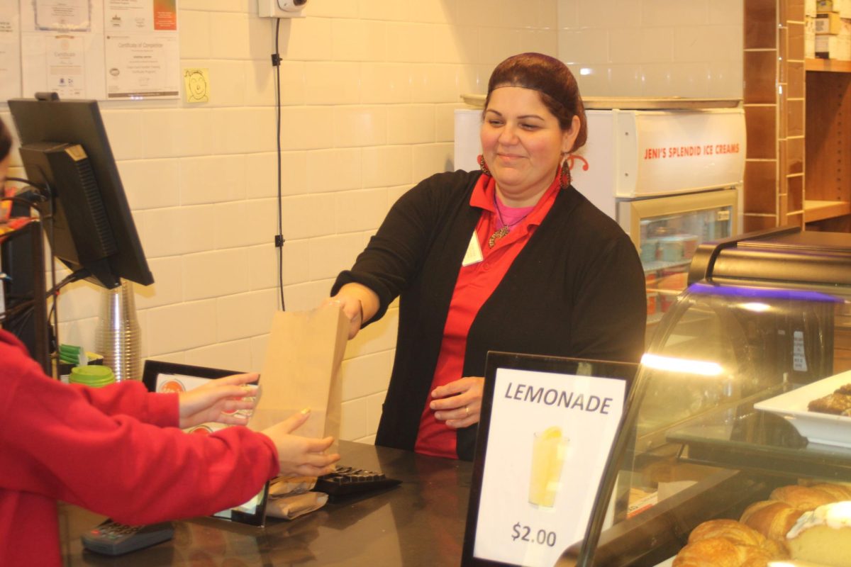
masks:
[[[506,205],[534,205],[555,179],[563,152],[573,146],[579,118],[563,131],[538,91],[494,88],[484,112],[482,151]]]

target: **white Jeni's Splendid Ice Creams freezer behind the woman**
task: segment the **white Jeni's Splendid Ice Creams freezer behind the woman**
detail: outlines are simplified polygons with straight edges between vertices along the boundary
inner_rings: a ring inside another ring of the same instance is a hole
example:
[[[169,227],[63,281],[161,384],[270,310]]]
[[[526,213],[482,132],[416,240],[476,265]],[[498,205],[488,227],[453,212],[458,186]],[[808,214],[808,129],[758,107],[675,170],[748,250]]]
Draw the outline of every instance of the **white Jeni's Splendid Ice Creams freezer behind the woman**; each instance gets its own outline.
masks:
[[[573,185],[635,243],[653,326],[686,286],[696,247],[740,232],[745,113],[726,99],[584,100],[588,142],[569,157]],[[456,169],[478,167],[481,116],[455,111]]]

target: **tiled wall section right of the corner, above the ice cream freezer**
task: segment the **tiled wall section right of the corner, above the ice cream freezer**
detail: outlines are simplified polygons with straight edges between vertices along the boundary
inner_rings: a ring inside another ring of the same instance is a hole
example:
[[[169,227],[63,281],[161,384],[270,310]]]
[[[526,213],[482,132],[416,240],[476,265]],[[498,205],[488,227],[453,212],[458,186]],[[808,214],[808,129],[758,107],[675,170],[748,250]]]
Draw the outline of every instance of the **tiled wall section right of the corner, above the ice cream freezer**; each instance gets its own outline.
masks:
[[[743,0],[557,0],[585,96],[742,97]]]

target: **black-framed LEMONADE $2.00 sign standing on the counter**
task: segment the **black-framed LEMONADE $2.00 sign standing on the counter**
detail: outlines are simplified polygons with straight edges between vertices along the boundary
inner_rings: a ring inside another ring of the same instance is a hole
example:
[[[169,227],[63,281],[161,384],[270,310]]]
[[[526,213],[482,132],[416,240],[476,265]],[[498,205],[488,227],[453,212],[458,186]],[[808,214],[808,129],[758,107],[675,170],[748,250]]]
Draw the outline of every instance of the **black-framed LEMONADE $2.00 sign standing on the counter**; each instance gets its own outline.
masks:
[[[488,353],[462,566],[549,566],[576,547],[563,540],[585,534],[597,493],[610,490],[601,485],[637,370]]]

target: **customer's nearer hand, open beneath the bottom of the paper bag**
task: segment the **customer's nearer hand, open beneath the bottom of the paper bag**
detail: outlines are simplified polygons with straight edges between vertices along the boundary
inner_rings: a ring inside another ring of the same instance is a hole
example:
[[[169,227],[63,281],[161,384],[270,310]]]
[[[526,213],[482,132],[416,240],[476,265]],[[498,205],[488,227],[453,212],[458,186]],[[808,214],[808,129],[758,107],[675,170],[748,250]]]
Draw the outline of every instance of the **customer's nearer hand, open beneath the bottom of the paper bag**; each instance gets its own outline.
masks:
[[[340,455],[325,455],[334,442],[333,437],[309,439],[292,433],[310,417],[310,411],[300,411],[283,422],[276,423],[260,433],[265,434],[277,448],[277,460],[281,464],[281,476],[322,476],[334,470],[334,462]]]

